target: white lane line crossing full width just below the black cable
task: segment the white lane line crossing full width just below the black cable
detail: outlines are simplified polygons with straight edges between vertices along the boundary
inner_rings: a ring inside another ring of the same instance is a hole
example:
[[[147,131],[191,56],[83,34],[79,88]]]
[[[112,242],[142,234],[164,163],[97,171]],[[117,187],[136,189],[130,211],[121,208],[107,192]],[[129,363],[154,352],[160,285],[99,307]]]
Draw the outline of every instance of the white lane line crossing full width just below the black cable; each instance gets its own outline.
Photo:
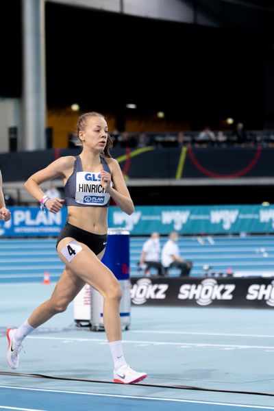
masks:
[[[247,404],[219,403],[219,402],[213,402],[213,401],[195,401],[195,400],[191,400],[191,399],[175,399],[175,398],[162,398],[162,397],[141,397],[141,396],[138,396],[138,395],[84,393],[82,391],[49,390],[49,389],[45,390],[43,388],[25,388],[25,387],[10,387],[10,386],[0,386],[0,388],[12,388],[14,390],[42,391],[43,393],[62,393],[62,394],[73,394],[73,395],[75,395],[75,394],[78,394],[78,395],[94,395],[95,397],[146,399],[148,401],[182,402],[182,403],[193,403],[193,404],[210,404],[212,406],[253,408],[253,409],[256,409],[256,410],[274,410],[274,407],[249,406]]]

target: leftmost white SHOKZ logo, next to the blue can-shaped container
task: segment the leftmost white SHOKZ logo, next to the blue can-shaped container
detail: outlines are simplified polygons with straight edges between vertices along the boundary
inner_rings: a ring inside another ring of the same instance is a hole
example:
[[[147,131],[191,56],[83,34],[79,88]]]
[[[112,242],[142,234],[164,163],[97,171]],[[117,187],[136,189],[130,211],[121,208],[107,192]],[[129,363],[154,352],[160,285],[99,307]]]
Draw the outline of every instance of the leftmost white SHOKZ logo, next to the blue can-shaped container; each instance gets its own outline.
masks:
[[[149,278],[138,279],[132,286],[131,295],[134,304],[143,304],[148,299],[165,299],[169,284],[152,284]]]

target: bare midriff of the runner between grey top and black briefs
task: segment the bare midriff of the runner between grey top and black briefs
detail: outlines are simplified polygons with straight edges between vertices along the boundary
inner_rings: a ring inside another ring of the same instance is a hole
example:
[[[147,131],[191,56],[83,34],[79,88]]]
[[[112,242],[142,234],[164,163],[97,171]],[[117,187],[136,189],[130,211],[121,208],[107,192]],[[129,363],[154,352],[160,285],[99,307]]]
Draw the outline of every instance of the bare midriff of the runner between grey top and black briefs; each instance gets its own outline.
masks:
[[[93,234],[108,232],[107,207],[68,207],[68,223]]]

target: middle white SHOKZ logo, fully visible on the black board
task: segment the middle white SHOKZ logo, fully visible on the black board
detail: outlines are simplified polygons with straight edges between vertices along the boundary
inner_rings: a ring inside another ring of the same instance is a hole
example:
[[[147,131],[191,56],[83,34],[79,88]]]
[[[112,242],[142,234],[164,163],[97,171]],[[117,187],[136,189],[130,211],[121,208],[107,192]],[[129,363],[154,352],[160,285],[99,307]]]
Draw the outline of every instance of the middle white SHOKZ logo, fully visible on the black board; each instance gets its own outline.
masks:
[[[231,300],[235,284],[218,284],[214,278],[203,279],[201,284],[183,284],[178,299],[195,299],[199,306],[208,306],[214,300]]]

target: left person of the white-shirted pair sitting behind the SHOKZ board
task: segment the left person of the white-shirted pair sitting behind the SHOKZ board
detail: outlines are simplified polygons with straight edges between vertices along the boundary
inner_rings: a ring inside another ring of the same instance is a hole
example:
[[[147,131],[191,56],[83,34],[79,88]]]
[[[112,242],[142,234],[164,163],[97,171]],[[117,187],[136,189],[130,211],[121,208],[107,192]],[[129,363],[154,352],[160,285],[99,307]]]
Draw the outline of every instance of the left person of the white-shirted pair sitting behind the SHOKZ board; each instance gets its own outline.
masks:
[[[162,264],[160,263],[160,236],[158,232],[151,233],[150,238],[142,246],[142,254],[139,266],[145,269],[145,275],[149,276],[149,269],[153,267],[162,275]]]

